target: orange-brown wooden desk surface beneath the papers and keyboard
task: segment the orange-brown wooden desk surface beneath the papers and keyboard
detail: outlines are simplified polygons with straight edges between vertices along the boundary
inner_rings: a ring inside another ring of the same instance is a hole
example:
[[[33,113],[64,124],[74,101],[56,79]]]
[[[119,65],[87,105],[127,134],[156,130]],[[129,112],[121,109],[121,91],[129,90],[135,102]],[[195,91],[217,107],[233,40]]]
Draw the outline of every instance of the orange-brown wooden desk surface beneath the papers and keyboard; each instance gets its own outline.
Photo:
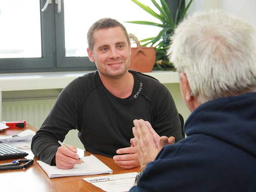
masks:
[[[0,132],[1,136],[8,136],[8,135],[16,135],[26,129],[31,129],[33,131],[37,131],[36,128],[27,124],[25,128],[18,128],[18,129],[5,129],[4,131]],[[26,159],[33,159],[34,164],[24,170],[11,170],[11,171],[0,171],[0,191],[1,192],[9,192],[9,191],[26,191],[26,192],[76,192],[76,191],[83,191],[83,192],[97,192],[103,191],[98,187],[84,181],[82,178],[92,177],[89,176],[73,176],[73,177],[62,177],[62,178],[52,178],[49,179],[48,175],[44,172],[43,169],[37,163],[39,160],[34,154],[31,152],[30,149],[23,149],[29,153],[26,156]],[[79,150],[79,156],[89,156],[90,152]],[[133,169],[122,169],[120,168],[111,158],[104,157],[101,155],[95,155],[98,159],[100,159],[103,163],[105,163],[109,168],[113,170],[113,174],[120,174],[120,173],[131,173],[131,172],[138,172],[140,168],[133,168]],[[9,160],[2,160],[0,164],[7,164],[12,162],[16,159],[9,159]],[[106,174],[102,174],[106,175]],[[94,175],[100,176],[100,175]]]

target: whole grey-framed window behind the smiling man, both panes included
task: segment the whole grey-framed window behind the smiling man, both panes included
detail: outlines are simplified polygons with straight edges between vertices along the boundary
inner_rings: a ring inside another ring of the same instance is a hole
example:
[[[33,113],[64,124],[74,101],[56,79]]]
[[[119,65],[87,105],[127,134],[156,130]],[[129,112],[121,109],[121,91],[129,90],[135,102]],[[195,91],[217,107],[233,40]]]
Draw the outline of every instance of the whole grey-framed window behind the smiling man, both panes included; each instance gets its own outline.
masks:
[[[0,30],[1,73],[95,70],[87,57],[86,37],[89,27],[100,18],[117,19],[139,40],[160,31],[157,27],[125,23],[158,22],[130,0],[58,1],[61,6],[50,0],[42,12],[46,0],[0,0],[0,26],[4,29]],[[154,7],[149,0],[140,2]],[[173,0],[166,2],[171,4]]]

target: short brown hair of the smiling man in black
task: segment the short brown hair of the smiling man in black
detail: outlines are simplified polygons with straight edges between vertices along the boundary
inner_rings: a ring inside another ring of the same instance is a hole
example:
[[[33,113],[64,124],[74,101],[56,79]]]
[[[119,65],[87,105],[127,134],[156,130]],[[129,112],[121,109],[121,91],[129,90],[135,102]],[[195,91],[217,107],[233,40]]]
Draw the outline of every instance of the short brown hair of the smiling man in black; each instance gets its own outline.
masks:
[[[93,45],[94,45],[93,33],[94,33],[94,31],[100,30],[100,29],[112,28],[112,27],[121,27],[124,31],[124,34],[126,35],[127,41],[128,42],[130,41],[128,33],[126,31],[126,28],[122,25],[122,23],[118,22],[116,19],[103,18],[103,19],[100,19],[99,21],[96,21],[93,25],[91,25],[90,29],[88,30],[87,41],[88,41],[89,49],[93,50]]]

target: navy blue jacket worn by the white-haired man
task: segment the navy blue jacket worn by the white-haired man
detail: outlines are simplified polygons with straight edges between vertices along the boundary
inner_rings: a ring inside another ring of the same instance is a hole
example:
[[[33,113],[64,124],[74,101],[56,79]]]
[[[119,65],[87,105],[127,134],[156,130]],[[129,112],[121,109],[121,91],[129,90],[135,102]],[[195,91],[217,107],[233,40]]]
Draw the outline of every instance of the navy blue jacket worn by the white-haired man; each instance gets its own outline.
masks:
[[[163,147],[130,192],[256,191],[256,93],[195,109],[187,138]]]

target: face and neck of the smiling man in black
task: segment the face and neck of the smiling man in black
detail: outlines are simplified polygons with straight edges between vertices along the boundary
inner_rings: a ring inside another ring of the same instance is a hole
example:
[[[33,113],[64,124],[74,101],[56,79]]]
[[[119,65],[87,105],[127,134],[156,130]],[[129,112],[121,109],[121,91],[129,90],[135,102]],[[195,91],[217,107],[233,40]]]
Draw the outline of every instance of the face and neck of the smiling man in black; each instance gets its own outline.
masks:
[[[103,85],[113,95],[127,98],[132,94],[133,75],[129,73],[130,41],[121,27],[97,30],[94,46],[87,48],[91,62],[95,62]]]

